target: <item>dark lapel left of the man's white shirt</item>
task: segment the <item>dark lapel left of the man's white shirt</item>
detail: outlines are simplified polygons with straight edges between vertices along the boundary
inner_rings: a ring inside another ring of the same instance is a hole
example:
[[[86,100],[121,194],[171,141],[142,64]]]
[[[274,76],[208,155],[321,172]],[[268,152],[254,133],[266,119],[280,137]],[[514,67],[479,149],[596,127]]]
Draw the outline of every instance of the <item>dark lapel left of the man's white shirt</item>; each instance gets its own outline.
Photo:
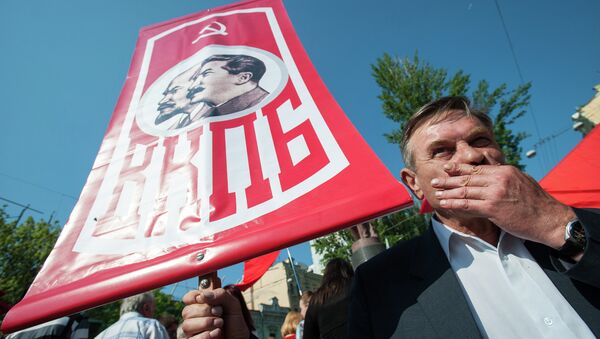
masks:
[[[417,301],[440,337],[481,338],[460,283],[432,227],[418,244],[411,274],[426,286]]]

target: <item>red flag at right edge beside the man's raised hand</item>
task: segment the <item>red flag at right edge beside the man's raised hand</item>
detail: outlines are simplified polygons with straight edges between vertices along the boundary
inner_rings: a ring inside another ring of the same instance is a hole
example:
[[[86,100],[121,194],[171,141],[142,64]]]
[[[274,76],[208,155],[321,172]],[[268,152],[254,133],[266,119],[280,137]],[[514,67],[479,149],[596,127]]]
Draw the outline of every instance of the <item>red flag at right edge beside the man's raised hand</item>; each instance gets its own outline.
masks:
[[[540,185],[574,207],[600,208],[600,127],[596,126],[561,160]]]

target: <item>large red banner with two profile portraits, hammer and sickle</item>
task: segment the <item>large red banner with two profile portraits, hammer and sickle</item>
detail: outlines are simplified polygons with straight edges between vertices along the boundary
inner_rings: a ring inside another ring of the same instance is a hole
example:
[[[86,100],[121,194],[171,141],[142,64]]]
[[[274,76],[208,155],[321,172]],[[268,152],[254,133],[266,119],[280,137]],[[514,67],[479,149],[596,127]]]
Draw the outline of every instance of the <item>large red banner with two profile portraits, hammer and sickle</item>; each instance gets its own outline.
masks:
[[[79,201],[2,330],[409,204],[319,79],[280,1],[146,27]]]

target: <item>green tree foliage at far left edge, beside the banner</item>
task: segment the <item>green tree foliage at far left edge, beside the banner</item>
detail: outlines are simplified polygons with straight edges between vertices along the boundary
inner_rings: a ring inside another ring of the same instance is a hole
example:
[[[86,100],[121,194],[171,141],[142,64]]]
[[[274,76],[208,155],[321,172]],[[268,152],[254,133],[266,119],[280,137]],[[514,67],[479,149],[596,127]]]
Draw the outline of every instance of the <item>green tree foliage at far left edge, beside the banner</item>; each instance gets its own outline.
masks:
[[[60,234],[58,223],[27,218],[17,225],[0,208],[0,290],[9,304],[20,301]]]

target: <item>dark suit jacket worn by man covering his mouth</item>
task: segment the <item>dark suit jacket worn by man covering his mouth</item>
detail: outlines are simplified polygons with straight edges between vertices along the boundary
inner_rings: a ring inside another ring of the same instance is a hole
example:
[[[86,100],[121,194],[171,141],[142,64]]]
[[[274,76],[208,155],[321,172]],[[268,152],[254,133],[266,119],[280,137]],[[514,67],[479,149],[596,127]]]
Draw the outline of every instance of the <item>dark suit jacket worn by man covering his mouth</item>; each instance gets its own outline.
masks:
[[[588,243],[565,271],[543,245],[526,246],[550,280],[600,337],[600,210],[575,209]],[[433,229],[358,267],[349,338],[481,338],[460,283]]]

